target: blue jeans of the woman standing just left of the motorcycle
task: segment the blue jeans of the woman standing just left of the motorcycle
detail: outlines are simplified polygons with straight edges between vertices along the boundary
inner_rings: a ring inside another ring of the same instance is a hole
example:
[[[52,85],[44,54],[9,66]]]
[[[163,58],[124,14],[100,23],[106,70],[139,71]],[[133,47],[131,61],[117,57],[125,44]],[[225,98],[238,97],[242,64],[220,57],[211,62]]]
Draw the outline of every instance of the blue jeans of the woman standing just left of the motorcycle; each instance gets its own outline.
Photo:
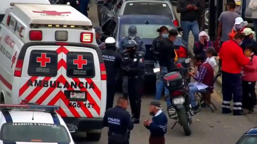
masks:
[[[168,73],[167,67],[161,67],[161,76],[164,76],[167,73]],[[157,79],[156,80],[156,94],[155,94],[156,100],[160,100],[163,87],[164,87],[165,94],[169,95],[169,90],[164,86],[163,78]],[[167,101],[167,107],[171,106],[170,96],[167,97],[166,101]]]

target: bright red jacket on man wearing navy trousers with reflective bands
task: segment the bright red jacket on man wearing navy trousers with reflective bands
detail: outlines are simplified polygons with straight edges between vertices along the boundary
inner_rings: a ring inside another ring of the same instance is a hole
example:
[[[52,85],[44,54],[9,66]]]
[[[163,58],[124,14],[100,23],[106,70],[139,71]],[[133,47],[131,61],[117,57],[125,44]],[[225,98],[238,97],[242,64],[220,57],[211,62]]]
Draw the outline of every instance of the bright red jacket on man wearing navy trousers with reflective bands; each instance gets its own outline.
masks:
[[[240,74],[242,67],[250,62],[234,40],[228,40],[222,44],[219,58],[222,60],[222,71],[233,74]]]

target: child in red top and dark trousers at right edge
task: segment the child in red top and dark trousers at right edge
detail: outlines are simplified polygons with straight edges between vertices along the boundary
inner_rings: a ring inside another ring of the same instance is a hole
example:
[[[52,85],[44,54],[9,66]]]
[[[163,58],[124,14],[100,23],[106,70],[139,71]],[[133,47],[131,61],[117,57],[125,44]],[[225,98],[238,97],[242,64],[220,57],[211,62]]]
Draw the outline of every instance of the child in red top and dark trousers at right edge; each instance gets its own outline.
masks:
[[[251,53],[253,51],[253,53]],[[251,53],[249,55],[249,53]],[[248,45],[245,48],[245,55],[249,56],[251,62],[242,70],[242,108],[247,109],[248,113],[253,113],[253,107],[256,105],[255,83],[257,80],[257,48]]]

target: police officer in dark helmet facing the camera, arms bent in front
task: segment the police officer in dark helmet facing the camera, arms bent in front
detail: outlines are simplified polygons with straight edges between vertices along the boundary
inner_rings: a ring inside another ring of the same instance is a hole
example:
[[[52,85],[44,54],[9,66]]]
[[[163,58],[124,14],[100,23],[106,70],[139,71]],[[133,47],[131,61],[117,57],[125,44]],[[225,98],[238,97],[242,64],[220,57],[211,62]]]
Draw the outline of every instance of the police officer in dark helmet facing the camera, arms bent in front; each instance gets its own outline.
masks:
[[[139,124],[145,64],[143,55],[136,51],[136,47],[135,40],[128,40],[127,52],[121,62],[121,70],[123,76],[127,77],[127,81],[123,81],[123,86],[127,88],[130,98],[132,121],[134,124]]]

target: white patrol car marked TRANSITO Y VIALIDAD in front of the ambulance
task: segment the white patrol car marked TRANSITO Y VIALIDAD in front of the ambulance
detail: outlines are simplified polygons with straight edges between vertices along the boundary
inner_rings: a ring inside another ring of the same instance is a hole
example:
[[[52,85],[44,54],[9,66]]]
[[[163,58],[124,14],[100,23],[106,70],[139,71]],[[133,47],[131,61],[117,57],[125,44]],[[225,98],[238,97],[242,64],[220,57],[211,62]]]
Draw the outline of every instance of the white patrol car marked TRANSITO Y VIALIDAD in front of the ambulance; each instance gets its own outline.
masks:
[[[0,143],[75,143],[69,132],[75,126],[65,124],[55,112],[59,106],[0,104]]]

